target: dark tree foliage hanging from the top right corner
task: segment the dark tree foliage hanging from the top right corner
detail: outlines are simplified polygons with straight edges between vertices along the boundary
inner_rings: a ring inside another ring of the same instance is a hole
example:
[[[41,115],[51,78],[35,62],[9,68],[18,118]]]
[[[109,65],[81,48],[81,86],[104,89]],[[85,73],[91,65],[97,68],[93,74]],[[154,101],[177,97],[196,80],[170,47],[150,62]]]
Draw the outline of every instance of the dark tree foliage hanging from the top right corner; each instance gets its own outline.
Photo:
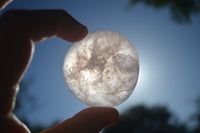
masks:
[[[138,3],[155,9],[168,7],[171,18],[179,24],[192,22],[192,16],[200,14],[200,0],[130,0],[129,8]]]

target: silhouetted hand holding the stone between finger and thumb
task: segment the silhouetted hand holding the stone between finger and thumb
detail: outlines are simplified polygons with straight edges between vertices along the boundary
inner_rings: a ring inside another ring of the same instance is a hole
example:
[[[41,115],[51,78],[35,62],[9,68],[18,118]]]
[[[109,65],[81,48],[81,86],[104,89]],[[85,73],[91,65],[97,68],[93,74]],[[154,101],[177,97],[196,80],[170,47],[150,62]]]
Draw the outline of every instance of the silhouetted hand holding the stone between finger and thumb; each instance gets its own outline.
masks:
[[[0,9],[6,0],[0,1]],[[3,4],[2,4],[3,3]],[[12,113],[18,84],[33,55],[34,43],[58,36],[76,42],[88,30],[63,10],[13,10],[0,18],[0,132],[28,133]],[[109,107],[87,108],[44,133],[95,133],[117,122],[118,111]]]

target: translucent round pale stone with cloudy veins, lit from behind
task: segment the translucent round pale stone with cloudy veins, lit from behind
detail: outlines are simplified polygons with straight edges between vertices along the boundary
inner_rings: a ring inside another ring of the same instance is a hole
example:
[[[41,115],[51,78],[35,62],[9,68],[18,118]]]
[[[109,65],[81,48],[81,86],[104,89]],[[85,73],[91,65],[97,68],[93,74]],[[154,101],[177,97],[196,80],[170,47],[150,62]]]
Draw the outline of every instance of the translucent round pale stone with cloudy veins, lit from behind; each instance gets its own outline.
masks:
[[[134,46],[122,35],[98,31],[72,45],[63,72],[68,88],[82,102],[114,107],[133,92],[139,60]]]

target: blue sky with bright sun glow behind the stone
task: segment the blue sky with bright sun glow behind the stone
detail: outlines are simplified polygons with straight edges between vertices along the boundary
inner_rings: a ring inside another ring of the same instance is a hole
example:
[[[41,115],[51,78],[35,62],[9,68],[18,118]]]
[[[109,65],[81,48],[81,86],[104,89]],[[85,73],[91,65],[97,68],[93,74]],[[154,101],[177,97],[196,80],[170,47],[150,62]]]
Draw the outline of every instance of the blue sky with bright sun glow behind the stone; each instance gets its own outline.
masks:
[[[140,75],[133,94],[116,108],[166,105],[181,120],[195,111],[200,95],[200,19],[177,24],[167,8],[154,10],[138,4],[127,9],[125,0],[15,0],[8,9],[64,9],[89,32],[110,30],[126,37],[136,48]],[[62,73],[63,59],[72,43],[53,38],[35,45],[32,63],[24,77],[34,77],[30,93],[37,110],[24,110],[33,123],[65,120],[88,107],[68,90]],[[23,115],[22,113],[22,115]]]

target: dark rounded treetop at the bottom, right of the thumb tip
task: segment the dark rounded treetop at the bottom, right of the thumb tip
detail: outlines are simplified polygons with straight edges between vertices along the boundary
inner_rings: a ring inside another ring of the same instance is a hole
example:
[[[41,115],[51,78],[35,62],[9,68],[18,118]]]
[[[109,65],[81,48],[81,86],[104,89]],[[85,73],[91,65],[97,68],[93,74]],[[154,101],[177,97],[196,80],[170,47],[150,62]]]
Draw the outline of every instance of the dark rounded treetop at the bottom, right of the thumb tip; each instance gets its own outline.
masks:
[[[108,127],[104,133],[189,133],[186,125],[164,106],[138,105],[129,108],[118,123]]]

